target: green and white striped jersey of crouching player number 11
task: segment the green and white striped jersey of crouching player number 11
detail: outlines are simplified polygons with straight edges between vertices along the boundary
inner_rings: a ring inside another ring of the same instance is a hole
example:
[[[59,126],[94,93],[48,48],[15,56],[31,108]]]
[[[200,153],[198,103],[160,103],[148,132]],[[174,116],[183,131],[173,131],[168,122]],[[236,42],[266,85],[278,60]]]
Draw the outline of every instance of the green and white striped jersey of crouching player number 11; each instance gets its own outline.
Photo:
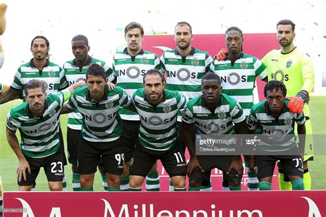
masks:
[[[177,91],[163,91],[162,102],[149,104],[144,89],[138,89],[131,97],[140,115],[138,144],[151,150],[169,150],[177,144],[177,111],[184,108],[186,98]]]

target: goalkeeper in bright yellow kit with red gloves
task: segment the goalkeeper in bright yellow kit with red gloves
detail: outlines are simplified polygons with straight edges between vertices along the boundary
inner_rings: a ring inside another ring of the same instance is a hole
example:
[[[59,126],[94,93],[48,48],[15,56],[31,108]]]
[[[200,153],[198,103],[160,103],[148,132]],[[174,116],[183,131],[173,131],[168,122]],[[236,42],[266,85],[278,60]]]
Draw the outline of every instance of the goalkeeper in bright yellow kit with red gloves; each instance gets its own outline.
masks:
[[[263,63],[268,71],[268,80],[279,80],[285,84],[287,95],[292,96],[287,105],[290,111],[305,114],[306,137],[305,155],[303,159],[303,181],[305,190],[311,190],[311,177],[308,170],[308,162],[314,160],[312,124],[309,117],[309,108],[304,102],[309,102],[309,93],[314,89],[314,67],[312,60],[303,54],[298,47],[293,44],[296,36],[294,32],[295,24],[290,20],[281,20],[276,25],[276,38],[281,45],[281,49],[273,49],[263,58]],[[226,58],[227,50],[222,49],[217,54],[217,60]],[[291,190],[291,184],[287,176],[283,174],[283,168],[279,164],[279,183],[281,190]]]

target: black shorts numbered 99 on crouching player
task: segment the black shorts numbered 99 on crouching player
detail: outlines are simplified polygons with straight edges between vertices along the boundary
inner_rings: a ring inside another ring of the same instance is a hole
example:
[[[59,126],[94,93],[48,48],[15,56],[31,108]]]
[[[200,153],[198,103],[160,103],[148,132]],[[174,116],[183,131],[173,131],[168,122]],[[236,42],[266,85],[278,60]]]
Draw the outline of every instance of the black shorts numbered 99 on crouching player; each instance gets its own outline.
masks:
[[[78,170],[80,174],[93,174],[100,157],[109,174],[120,175],[123,171],[124,154],[121,139],[108,142],[91,142],[80,136],[78,148]]]

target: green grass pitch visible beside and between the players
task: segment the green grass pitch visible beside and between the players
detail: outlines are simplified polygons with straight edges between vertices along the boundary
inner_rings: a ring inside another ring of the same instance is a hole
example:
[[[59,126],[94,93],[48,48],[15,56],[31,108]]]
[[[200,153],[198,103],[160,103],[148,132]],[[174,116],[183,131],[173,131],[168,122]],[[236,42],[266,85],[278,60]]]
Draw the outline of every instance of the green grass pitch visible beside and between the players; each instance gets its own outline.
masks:
[[[14,152],[11,150],[6,139],[6,115],[8,111],[19,104],[21,101],[8,102],[7,104],[0,105],[0,176],[2,176],[3,190],[15,191],[18,189],[16,170],[18,160]],[[325,125],[325,105],[326,96],[311,96],[309,109],[312,117],[312,128],[314,134],[326,134]],[[66,137],[67,131],[67,115],[61,116],[61,128],[63,136]],[[66,140],[65,140],[66,141]],[[67,144],[65,144],[67,149]],[[309,162],[309,171],[312,176],[312,189],[313,190],[326,190],[326,155],[315,155],[314,161]],[[67,190],[72,190],[72,170],[71,165],[65,166],[65,175],[67,179]],[[94,181],[94,190],[102,191],[102,183],[99,172],[96,173],[96,180]],[[41,170],[38,178],[36,179],[36,190],[48,190],[46,176]]]

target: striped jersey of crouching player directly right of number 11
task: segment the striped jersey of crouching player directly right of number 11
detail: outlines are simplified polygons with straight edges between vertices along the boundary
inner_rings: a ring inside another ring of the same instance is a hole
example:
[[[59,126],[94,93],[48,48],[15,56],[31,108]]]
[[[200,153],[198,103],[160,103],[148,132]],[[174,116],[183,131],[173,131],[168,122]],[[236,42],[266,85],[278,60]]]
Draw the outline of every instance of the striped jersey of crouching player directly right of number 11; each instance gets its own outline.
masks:
[[[207,108],[203,95],[199,95],[187,102],[182,114],[182,122],[194,123],[200,134],[235,134],[233,124],[245,119],[246,116],[237,100],[223,93],[214,113]]]

